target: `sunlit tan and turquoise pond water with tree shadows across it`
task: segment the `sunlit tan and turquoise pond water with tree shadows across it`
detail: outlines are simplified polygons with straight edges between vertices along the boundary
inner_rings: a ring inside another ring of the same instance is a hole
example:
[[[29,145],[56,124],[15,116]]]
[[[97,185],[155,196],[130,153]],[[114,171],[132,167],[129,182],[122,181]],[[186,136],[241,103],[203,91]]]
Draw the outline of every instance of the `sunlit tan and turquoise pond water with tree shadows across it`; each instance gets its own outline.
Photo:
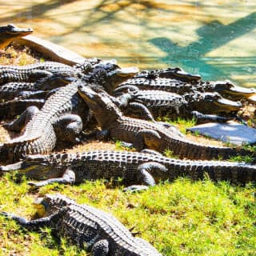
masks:
[[[207,3],[206,3],[207,2]],[[0,1],[1,24],[120,66],[181,66],[256,86],[256,1]]]

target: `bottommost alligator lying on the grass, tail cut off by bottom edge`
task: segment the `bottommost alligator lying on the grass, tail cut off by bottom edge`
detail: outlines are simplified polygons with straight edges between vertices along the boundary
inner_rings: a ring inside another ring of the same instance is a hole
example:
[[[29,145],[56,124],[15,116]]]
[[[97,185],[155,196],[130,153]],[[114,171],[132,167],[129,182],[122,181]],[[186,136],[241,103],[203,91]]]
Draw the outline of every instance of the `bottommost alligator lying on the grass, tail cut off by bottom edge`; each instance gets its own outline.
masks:
[[[117,218],[93,206],[79,205],[62,194],[46,194],[37,198],[35,206],[40,218],[27,220],[2,212],[28,230],[50,227],[58,238],[66,237],[93,256],[161,256],[149,242],[135,238]]]

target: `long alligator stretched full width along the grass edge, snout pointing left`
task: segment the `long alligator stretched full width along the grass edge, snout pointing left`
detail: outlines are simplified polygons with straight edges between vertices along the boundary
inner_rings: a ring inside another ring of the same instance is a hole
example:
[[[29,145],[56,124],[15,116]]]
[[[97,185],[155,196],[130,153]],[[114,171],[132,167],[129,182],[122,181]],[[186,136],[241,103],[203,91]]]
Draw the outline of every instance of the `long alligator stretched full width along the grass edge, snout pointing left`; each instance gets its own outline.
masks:
[[[73,184],[99,178],[122,181],[128,190],[143,190],[159,180],[173,181],[178,177],[214,181],[226,180],[244,185],[256,181],[256,166],[227,161],[193,161],[166,158],[162,154],[130,151],[92,150],[76,154],[28,155],[22,161],[0,166],[0,172],[18,174],[39,180],[37,187],[58,182]],[[121,178],[121,179],[120,179]]]

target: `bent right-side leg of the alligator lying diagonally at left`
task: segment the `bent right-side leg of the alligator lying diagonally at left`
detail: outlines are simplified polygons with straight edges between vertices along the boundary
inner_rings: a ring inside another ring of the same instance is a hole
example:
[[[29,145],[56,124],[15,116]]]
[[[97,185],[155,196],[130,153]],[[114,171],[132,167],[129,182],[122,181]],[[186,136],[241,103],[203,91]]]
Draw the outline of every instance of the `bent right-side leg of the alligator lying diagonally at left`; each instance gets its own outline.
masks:
[[[82,118],[77,114],[64,114],[54,124],[54,131],[58,142],[65,141],[76,144],[80,142],[78,136],[82,132]]]

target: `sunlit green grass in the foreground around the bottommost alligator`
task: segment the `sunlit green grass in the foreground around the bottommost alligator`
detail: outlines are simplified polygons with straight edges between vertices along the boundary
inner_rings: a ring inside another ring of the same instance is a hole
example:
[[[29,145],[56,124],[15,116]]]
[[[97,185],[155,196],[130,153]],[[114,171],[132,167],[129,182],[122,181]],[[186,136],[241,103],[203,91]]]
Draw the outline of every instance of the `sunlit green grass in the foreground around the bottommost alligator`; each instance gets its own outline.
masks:
[[[255,187],[230,186],[209,180],[178,179],[161,183],[142,193],[112,189],[102,181],[79,186],[52,184],[37,194],[26,181],[15,184],[10,175],[0,180],[0,210],[31,218],[31,202],[46,193],[62,193],[78,203],[114,214],[126,227],[163,255],[255,255]],[[65,239],[58,242],[49,229],[29,232],[15,222],[0,218],[0,255],[90,255]]]

